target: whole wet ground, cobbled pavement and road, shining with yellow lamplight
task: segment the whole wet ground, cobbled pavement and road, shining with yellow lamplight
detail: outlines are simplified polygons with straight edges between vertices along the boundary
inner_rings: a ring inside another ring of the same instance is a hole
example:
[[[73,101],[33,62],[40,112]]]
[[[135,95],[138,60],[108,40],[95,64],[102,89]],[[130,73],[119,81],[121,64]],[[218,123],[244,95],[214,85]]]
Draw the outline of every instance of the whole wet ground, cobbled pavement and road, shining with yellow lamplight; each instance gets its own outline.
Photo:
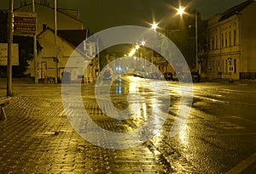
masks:
[[[0,173],[256,171],[255,81],[194,83],[191,108],[181,107],[177,81],[124,76],[82,84],[80,96],[79,85],[67,86],[14,81],[0,121]],[[185,122],[172,135],[177,121]]]

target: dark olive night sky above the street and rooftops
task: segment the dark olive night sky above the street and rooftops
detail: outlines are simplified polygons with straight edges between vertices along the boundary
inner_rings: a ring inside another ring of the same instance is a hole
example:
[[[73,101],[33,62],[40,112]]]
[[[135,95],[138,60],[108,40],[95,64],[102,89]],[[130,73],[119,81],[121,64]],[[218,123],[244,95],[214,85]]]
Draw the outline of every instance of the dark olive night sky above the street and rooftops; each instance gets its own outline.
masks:
[[[15,8],[23,0],[14,0]],[[35,0],[40,2],[40,0]],[[194,0],[189,8],[195,8],[204,20],[246,0]],[[31,3],[32,0],[26,0]],[[54,0],[49,0],[53,4]],[[150,26],[153,20],[160,21],[171,16],[172,4],[178,0],[57,0],[58,8],[78,9],[80,20],[90,31],[96,32],[116,25]],[[1,0],[1,9],[9,8],[9,0]]]

